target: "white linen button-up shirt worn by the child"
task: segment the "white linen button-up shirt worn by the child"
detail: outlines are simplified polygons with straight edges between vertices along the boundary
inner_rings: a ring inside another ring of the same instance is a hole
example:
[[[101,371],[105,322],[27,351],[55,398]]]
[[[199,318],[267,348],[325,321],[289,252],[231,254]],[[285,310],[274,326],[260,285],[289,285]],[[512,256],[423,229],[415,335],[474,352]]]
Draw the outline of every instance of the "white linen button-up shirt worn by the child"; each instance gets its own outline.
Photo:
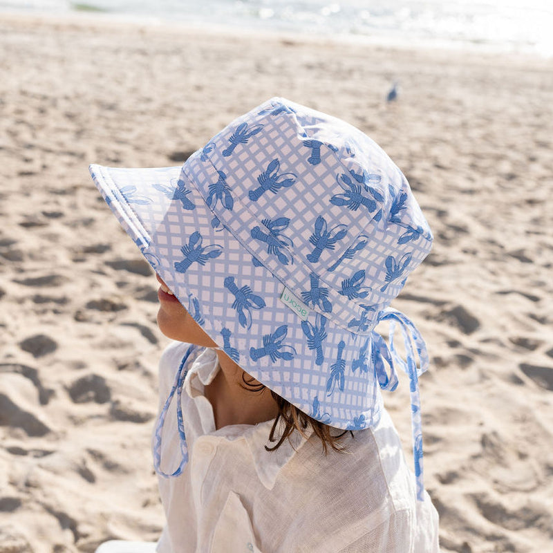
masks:
[[[160,361],[160,402],[171,391],[188,344]],[[216,430],[204,386],[218,371],[205,349],[185,378],[182,413],[189,461],[159,479],[167,525],[159,553],[435,553],[438,514],[415,478],[386,411],[373,429],[344,436],[347,453],[325,456],[315,435],[299,433],[266,451],[273,421]],[[176,397],[175,400],[176,401]],[[162,470],[180,462],[176,409],[162,433]]]

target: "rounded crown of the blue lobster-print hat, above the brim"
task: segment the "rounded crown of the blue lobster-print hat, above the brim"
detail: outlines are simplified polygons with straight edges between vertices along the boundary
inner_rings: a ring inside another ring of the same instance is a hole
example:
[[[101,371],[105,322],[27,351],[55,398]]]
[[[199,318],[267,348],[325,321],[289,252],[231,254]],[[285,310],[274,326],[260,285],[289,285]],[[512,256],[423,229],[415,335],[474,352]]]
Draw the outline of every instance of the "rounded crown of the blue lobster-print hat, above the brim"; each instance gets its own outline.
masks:
[[[353,332],[372,330],[431,249],[386,153],[354,126],[283,98],[234,120],[183,170],[254,263]]]

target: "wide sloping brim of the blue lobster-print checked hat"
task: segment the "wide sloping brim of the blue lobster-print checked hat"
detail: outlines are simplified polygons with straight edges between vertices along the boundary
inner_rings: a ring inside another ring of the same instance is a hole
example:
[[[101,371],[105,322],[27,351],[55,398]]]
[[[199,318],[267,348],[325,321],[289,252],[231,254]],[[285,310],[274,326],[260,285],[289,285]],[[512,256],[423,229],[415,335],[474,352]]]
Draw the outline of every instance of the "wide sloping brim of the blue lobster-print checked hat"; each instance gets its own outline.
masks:
[[[218,221],[184,167],[90,170],[153,270],[244,371],[316,420],[376,424],[382,395],[371,335],[314,310],[303,321],[285,305],[285,285]]]

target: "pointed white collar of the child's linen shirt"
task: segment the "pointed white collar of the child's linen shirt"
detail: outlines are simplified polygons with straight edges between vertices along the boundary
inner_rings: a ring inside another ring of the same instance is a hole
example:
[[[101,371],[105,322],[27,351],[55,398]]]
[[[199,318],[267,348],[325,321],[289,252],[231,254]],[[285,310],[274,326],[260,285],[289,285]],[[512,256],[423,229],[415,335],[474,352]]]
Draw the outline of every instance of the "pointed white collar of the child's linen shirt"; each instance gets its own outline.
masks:
[[[194,359],[189,370],[189,377],[185,379],[185,391],[192,400],[195,400],[195,402],[207,402],[204,395],[205,386],[212,382],[218,370],[216,350],[204,348],[203,351],[198,352],[198,356]],[[200,407],[198,404],[196,406]],[[210,420],[202,420],[203,428],[214,428],[212,409],[210,412],[207,412],[205,409],[198,409],[198,412],[201,419],[210,418]],[[280,471],[292,460],[297,451],[312,434],[311,428],[306,429],[305,435],[301,435],[299,431],[294,431],[290,435],[290,439],[284,440],[279,449],[267,451],[265,445],[271,446],[269,434],[273,423],[274,419],[255,425],[233,424],[232,426],[209,432],[228,441],[245,440],[248,449],[250,449],[257,476],[267,489],[273,489]]]

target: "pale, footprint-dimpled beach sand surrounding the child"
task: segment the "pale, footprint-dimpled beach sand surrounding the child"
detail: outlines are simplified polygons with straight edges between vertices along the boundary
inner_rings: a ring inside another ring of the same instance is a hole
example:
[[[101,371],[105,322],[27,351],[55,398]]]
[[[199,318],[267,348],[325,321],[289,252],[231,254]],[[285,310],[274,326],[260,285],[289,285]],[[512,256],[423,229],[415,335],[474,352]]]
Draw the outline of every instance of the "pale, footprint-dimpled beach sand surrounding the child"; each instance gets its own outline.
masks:
[[[395,306],[443,551],[552,551],[552,61],[236,34],[0,19],[0,552],[160,533],[157,285],[87,165],[180,165],[272,95],[371,135],[434,229]]]

